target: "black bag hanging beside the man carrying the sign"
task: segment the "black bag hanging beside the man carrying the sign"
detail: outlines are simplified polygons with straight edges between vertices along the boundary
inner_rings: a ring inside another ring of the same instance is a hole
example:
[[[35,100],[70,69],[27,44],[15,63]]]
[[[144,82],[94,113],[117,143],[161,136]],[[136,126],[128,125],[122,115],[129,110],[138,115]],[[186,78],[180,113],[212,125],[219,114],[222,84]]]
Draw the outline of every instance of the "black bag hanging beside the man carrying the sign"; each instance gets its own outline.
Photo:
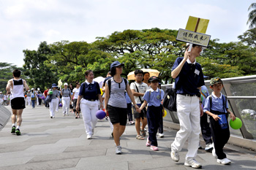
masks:
[[[165,96],[164,96],[164,100],[162,101],[162,106],[165,107],[165,109],[168,109],[172,112],[177,112],[176,97],[177,97],[177,93],[175,88],[167,88],[165,90]]]

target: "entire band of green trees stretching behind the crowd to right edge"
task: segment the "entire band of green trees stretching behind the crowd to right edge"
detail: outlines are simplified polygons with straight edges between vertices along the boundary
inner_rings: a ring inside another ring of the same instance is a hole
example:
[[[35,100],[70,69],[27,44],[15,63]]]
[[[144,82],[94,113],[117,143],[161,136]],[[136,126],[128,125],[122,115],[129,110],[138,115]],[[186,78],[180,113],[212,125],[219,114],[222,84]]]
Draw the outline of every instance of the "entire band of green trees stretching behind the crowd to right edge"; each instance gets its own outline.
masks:
[[[84,73],[91,69],[94,77],[105,77],[110,63],[124,63],[123,76],[135,69],[157,69],[163,82],[171,80],[170,73],[177,57],[183,57],[184,42],[177,42],[178,31],[170,29],[124,30],[110,36],[97,37],[97,41],[61,41],[47,45],[42,42],[38,50],[24,50],[24,69],[32,87],[47,87],[53,82],[84,81]],[[203,73],[211,77],[238,77],[255,74],[256,30],[238,36],[241,42],[219,43],[211,40],[197,61]],[[244,45],[244,43],[246,45]],[[42,86],[41,86],[42,85]]]

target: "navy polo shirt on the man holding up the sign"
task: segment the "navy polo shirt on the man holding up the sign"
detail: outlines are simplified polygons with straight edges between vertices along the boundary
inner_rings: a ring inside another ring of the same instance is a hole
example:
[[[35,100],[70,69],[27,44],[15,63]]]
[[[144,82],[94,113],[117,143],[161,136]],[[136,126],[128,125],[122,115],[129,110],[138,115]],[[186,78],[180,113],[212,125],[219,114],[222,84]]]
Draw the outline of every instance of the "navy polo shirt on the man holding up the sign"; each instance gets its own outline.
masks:
[[[183,58],[184,57],[176,58],[172,71],[176,69]],[[178,74],[178,77],[175,79],[175,84],[178,94],[197,95],[199,93],[199,89],[197,88],[205,85],[203,80],[202,66],[200,63],[188,63],[186,61],[181,69],[181,72]]]

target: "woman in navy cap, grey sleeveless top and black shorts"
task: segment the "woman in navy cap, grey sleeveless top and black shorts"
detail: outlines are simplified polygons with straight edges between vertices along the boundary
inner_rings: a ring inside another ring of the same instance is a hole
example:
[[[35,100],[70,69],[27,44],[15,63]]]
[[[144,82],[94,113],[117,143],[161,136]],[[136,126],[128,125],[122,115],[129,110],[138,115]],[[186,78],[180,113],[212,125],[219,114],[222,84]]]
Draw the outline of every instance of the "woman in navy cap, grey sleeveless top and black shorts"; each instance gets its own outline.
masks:
[[[129,98],[138,110],[132,91],[129,88],[127,79],[121,77],[124,63],[114,61],[110,65],[110,74],[112,76],[106,82],[105,88],[105,112],[108,110],[110,122],[113,124],[113,137],[116,143],[116,154],[121,154],[120,136],[124,133],[127,124],[127,100],[124,92],[127,90]]]

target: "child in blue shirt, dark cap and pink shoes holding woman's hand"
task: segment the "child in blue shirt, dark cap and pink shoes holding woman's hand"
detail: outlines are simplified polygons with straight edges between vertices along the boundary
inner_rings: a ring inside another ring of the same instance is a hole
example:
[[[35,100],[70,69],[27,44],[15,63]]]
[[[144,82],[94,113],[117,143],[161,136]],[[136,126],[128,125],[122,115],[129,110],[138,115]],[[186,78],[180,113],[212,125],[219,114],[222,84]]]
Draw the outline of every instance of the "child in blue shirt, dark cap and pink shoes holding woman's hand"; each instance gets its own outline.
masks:
[[[160,82],[158,77],[150,77],[148,82],[150,82],[151,88],[146,90],[146,93],[143,96],[144,102],[141,105],[139,112],[141,112],[141,110],[146,107],[146,104],[148,104],[148,139],[146,146],[150,147],[151,150],[157,151],[157,130],[159,128],[159,121],[161,121],[162,117],[161,101],[164,98],[164,91],[157,88]]]

